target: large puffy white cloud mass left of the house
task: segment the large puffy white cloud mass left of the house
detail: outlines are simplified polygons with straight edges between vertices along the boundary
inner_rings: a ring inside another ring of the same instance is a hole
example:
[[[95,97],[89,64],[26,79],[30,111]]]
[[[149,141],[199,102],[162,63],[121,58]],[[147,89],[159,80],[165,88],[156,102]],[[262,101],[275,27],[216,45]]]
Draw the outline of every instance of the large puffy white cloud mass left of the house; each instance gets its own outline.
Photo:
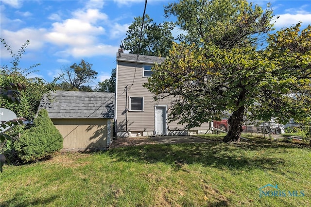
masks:
[[[80,58],[98,55],[113,57],[116,51],[118,51],[118,46],[99,42],[99,35],[109,35],[109,37],[114,39],[123,38],[128,24],[111,23],[108,16],[98,10],[98,8],[103,6],[104,1],[87,1],[85,8],[69,13],[71,17],[67,19],[62,20],[59,12],[52,13],[48,18],[55,22],[52,23],[50,28],[24,28],[17,31],[12,29],[10,29],[11,31],[2,30],[1,37],[8,40],[8,44],[13,51],[18,51],[27,39],[31,41],[27,52],[29,50],[44,50],[43,47],[49,45],[49,48],[46,48],[46,50],[58,56],[57,62],[59,63],[68,63],[66,58],[69,57]],[[30,15],[30,13],[19,14]],[[13,20],[7,18],[5,21],[12,23]],[[105,25],[105,27],[111,30],[111,33],[106,34],[105,28],[101,25]],[[2,54],[4,53],[2,53],[1,48],[1,56],[4,57],[5,55]],[[6,52],[6,55],[10,56],[8,52]]]

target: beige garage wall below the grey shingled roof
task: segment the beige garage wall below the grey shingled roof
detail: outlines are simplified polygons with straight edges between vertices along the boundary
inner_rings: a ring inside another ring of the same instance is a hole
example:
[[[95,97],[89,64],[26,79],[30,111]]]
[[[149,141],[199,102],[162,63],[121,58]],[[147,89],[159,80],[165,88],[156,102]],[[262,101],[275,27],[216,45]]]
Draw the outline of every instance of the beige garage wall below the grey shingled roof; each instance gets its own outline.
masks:
[[[107,119],[52,121],[64,138],[63,149],[105,149],[107,146]]]

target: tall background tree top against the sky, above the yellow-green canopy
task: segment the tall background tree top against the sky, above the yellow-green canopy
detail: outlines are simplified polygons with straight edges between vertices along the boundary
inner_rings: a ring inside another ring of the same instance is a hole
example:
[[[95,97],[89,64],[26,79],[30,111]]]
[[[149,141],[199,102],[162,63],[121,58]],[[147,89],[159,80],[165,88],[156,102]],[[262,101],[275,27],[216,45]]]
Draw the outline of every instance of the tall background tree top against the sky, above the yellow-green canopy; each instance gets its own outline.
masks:
[[[246,0],[180,0],[165,6],[167,17],[175,16],[184,33],[180,41],[203,45],[209,42],[221,49],[258,44],[260,35],[272,30],[273,12],[263,12]]]

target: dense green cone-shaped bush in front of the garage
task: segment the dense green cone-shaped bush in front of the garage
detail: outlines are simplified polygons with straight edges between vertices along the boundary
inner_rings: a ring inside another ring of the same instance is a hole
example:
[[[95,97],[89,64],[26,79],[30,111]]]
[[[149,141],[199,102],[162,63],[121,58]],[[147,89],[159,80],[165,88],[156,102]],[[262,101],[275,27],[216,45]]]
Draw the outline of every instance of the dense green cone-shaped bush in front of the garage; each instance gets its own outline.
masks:
[[[14,148],[22,162],[42,159],[63,148],[63,137],[49,118],[47,110],[38,112],[33,127],[24,131],[14,143]]]

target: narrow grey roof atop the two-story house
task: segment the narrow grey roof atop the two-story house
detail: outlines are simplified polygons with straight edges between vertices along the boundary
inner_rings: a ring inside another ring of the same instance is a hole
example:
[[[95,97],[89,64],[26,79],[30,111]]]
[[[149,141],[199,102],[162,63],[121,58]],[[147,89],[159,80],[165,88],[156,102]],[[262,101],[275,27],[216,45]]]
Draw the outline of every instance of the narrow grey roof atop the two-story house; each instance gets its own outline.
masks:
[[[149,55],[138,55],[137,54],[126,54],[123,52],[117,52],[117,60],[125,61],[125,62],[137,62],[138,63],[163,63],[165,57],[156,57],[156,56],[149,56]]]

